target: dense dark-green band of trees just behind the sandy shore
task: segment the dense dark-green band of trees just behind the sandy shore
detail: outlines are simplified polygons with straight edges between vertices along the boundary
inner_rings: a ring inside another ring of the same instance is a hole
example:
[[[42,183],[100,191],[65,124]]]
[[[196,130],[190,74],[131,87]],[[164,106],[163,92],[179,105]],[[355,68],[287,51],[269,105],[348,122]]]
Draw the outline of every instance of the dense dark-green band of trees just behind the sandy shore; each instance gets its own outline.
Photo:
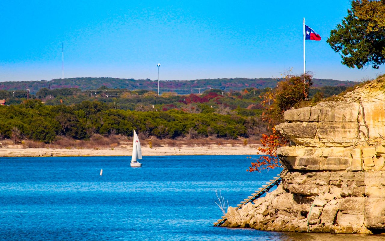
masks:
[[[0,106],[0,121],[0,135],[14,142],[30,139],[52,143],[59,136],[87,140],[94,134],[131,136],[133,129],[140,135],[157,138],[214,136],[235,139],[263,131],[263,123],[256,116],[119,110],[99,101],[47,106],[39,100],[30,100],[19,105]]]

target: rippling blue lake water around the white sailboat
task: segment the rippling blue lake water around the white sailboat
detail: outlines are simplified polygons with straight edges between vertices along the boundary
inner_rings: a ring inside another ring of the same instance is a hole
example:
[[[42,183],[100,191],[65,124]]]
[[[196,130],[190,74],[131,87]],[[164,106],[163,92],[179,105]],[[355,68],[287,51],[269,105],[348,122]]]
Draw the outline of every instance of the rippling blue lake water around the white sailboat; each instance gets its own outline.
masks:
[[[215,190],[236,206],[280,170],[246,156],[0,158],[1,240],[383,240],[213,227]],[[103,175],[100,176],[100,169]]]

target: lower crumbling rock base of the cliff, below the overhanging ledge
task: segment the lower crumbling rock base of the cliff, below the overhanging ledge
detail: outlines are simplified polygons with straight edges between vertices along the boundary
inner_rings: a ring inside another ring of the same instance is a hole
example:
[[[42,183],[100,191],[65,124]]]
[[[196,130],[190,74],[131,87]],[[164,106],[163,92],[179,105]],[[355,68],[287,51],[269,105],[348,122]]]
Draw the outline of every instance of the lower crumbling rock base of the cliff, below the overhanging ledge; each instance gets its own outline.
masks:
[[[385,172],[285,170],[276,190],[236,211],[227,227],[371,234],[385,229]]]

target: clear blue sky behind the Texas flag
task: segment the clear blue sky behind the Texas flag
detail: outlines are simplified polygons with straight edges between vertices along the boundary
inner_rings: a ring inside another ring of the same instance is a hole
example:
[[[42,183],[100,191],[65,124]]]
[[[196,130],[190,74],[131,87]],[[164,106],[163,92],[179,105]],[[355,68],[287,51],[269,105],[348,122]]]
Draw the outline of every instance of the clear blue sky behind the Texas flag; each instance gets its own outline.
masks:
[[[0,81],[114,77],[161,80],[271,78],[293,68],[314,78],[360,81],[326,43],[350,0],[0,2]]]

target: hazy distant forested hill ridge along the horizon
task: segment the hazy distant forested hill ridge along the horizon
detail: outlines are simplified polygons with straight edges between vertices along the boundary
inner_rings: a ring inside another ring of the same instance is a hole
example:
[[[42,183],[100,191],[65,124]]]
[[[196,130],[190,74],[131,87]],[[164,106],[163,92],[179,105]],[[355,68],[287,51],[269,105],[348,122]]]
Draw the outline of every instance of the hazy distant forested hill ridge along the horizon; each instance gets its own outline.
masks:
[[[266,87],[273,88],[277,81],[281,79],[274,78],[223,78],[223,79],[196,79],[196,80],[171,80],[159,81],[159,88],[161,92],[181,92],[183,89],[192,90],[194,92],[204,91],[206,88],[221,89],[223,91],[239,91],[245,88],[264,89]],[[334,79],[313,79],[314,87],[321,86],[353,86],[357,82],[353,81],[338,81]],[[82,90],[98,89],[101,86],[112,89],[157,89],[157,81],[151,79],[119,79],[119,78],[67,78],[67,79],[52,79],[50,81],[5,81],[0,82],[0,89],[12,90],[26,90],[30,89],[30,93],[35,94],[41,88],[79,88]],[[181,93],[183,94],[183,93]]]

